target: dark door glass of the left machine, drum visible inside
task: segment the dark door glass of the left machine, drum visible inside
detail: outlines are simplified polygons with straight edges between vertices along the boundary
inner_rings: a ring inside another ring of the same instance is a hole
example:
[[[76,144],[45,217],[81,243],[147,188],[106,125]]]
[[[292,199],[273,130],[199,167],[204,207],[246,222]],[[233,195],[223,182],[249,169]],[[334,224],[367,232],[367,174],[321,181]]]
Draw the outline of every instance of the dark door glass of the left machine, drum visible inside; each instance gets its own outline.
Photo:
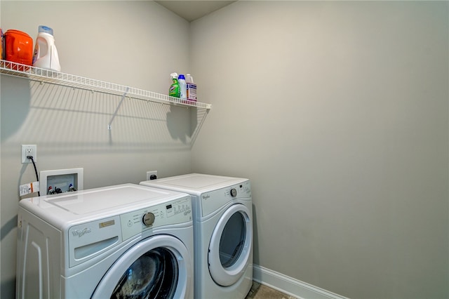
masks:
[[[148,251],[121,276],[111,298],[173,298],[177,286],[177,261],[166,248]]]

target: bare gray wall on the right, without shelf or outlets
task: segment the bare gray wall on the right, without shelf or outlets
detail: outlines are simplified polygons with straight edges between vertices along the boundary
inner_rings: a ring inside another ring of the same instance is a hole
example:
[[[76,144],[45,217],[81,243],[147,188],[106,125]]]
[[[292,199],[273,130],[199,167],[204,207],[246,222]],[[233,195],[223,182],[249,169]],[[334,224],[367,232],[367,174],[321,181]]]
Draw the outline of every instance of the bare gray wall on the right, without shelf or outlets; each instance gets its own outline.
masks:
[[[252,180],[255,264],[448,298],[448,2],[239,1],[192,22],[196,172]]]

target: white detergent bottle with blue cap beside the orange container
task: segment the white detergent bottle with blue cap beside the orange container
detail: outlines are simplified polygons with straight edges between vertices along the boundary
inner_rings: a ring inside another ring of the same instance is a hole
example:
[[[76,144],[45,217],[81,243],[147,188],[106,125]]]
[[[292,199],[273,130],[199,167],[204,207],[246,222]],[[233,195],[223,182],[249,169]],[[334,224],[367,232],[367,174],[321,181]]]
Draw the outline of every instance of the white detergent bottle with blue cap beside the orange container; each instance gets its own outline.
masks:
[[[36,46],[34,48],[33,66],[42,69],[53,69],[58,72],[61,70],[53,29],[50,27],[39,26],[39,33],[37,34]]]

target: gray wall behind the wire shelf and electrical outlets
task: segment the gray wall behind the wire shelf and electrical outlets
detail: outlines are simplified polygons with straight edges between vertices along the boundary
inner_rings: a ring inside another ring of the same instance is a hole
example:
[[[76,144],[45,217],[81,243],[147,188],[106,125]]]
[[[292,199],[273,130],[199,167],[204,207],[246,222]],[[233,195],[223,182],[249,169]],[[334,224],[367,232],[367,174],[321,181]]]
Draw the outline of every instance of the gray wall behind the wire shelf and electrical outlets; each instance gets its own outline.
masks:
[[[1,28],[36,38],[53,27],[62,72],[168,93],[188,72],[189,23],[152,1],[1,1]],[[20,12],[20,13],[19,13]],[[1,76],[1,298],[13,298],[18,186],[35,180],[20,145],[37,145],[39,171],[84,168],[84,187],[191,171],[190,110]]]

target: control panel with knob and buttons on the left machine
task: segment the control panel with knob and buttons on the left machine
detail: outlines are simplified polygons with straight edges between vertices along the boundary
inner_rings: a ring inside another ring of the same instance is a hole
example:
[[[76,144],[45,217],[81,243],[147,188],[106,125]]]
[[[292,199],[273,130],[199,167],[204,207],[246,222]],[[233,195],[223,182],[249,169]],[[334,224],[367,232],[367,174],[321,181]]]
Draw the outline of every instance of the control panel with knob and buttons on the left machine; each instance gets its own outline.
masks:
[[[192,221],[192,201],[190,197],[175,199],[164,204],[120,215],[123,241],[145,230],[189,221]]]

